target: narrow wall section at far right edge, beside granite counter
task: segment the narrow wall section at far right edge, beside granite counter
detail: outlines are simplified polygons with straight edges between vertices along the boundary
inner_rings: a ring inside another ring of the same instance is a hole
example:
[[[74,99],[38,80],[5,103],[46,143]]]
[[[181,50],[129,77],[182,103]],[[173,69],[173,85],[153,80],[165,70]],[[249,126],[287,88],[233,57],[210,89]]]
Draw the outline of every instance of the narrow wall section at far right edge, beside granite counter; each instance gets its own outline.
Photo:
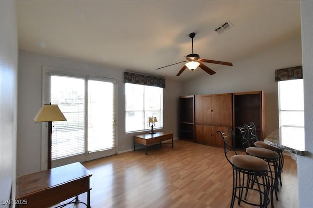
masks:
[[[313,1],[301,1],[305,157],[298,157],[300,208],[313,206]]]

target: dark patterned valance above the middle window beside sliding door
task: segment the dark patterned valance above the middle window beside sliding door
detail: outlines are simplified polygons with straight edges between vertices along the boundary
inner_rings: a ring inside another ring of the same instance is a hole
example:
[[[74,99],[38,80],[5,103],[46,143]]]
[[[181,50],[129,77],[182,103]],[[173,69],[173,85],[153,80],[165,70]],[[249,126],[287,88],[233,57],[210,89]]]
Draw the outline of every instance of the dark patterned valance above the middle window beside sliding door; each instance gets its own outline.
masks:
[[[124,73],[124,82],[165,88],[165,79],[155,76],[140,75],[133,72]]]

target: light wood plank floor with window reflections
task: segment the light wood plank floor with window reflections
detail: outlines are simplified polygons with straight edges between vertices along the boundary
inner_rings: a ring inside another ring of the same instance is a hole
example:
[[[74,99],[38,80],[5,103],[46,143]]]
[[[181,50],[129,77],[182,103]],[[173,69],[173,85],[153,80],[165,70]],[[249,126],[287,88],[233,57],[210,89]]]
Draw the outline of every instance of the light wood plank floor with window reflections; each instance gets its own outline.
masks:
[[[284,158],[283,186],[274,205],[296,208],[297,165],[291,157]],[[93,174],[92,208],[228,208],[230,205],[232,168],[222,148],[174,140],[174,148],[157,145],[148,149],[148,155],[139,149],[83,165]],[[86,194],[79,197],[86,202]],[[235,208],[238,207],[251,206],[245,203],[238,206],[236,200]]]

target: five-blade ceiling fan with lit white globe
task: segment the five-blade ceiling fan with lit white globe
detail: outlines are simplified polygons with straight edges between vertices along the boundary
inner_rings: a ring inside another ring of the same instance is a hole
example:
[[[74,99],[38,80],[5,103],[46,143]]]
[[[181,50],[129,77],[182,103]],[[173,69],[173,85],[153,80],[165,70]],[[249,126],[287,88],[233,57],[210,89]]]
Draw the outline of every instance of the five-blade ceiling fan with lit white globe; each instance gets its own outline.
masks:
[[[215,72],[210,69],[209,67],[205,66],[202,62],[206,62],[206,63],[215,63],[215,64],[222,64],[222,65],[227,65],[227,66],[232,66],[233,64],[230,62],[224,62],[224,61],[215,61],[215,60],[208,60],[208,59],[203,59],[200,58],[199,54],[194,54],[194,37],[195,37],[196,33],[190,33],[189,37],[192,39],[192,54],[188,54],[187,56],[185,56],[185,58],[187,60],[185,61],[180,61],[178,63],[174,63],[174,64],[170,64],[167,66],[163,66],[157,69],[162,69],[168,66],[172,66],[175,64],[179,64],[179,63],[184,63],[187,62],[181,69],[180,71],[177,73],[176,76],[179,76],[186,68],[190,69],[191,71],[193,71],[194,69],[196,69],[198,66],[203,69],[205,72],[209,73],[210,75],[215,74]]]

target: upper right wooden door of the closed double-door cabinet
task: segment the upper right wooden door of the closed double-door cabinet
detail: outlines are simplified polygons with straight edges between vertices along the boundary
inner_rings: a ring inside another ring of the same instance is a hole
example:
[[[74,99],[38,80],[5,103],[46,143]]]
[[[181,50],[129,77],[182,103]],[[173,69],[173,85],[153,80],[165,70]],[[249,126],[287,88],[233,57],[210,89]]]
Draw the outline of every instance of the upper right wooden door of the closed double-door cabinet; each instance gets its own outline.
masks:
[[[232,126],[232,95],[212,96],[212,124]]]

